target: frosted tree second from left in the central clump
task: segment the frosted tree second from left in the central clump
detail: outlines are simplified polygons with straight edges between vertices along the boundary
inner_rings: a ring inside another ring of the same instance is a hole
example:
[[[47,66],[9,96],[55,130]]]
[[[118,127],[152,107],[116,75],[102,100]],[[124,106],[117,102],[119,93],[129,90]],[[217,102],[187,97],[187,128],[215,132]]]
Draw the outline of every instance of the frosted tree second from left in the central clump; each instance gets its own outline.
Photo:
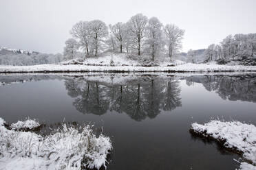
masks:
[[[79,21],[72,27],[70,34],[79,40],[82,47],[85,48],[86,56],[89,56],[89,43],[92,40],[92,33],[89,27],[89,22]]]

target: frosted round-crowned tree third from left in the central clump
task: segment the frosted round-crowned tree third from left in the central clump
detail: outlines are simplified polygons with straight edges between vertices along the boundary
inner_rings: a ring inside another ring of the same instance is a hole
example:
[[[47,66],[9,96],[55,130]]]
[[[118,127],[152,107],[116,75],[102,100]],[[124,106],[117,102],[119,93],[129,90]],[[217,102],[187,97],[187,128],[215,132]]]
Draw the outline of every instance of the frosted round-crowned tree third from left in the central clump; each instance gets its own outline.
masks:
[[[98,56],[100,41],[102,41],[103,38],[105,38],[109,34],[107,25],[103,21],[94,20],[89,22],[89,29],[91,30],[90,33],[93,40],[93,48],[95,51],[94,56]]]

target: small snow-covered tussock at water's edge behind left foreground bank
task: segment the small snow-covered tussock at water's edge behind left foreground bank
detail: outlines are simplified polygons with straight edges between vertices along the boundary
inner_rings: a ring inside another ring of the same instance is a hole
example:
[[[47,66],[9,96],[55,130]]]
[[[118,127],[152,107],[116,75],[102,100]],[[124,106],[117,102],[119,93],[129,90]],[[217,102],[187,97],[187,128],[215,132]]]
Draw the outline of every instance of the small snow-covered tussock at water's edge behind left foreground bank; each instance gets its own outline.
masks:
[[[12,123],[12,130],[34,130],[41,125],[33,119],[27,119],[25,121],[17,121],[17,123]]]

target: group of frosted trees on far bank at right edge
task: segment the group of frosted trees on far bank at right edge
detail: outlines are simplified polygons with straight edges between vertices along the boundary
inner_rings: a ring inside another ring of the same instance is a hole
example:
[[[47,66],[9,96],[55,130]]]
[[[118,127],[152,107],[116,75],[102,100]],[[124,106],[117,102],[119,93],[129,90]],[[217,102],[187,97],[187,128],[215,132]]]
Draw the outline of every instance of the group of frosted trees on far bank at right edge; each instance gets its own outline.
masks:
[[[220,45],[209,45],[204,51],[206,60],[250,58],[256,56],[256,34],[227,36]]]

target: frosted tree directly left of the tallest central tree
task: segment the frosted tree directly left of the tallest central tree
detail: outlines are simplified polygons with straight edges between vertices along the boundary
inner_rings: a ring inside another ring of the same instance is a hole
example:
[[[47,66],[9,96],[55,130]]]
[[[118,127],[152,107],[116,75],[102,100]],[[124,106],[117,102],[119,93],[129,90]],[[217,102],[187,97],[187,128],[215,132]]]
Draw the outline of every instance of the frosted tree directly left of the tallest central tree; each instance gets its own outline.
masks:
[[[116,37],[119,42],[120,53],[122,53],[122,45],[127,35],[125,23],[116,23],[115,25],[109,25],[112,34]]]

